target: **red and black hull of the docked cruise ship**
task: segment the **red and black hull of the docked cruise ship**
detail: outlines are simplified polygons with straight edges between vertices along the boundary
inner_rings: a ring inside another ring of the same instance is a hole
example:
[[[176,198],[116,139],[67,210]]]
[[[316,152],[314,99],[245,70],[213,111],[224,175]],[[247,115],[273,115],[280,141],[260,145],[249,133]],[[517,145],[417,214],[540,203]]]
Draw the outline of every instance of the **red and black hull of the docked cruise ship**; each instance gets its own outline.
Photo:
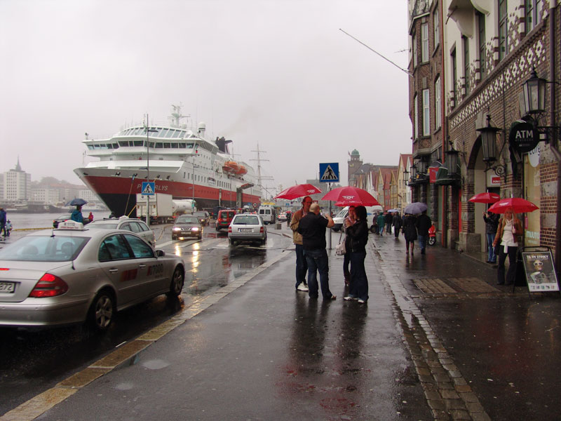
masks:
[[[145,178],[135,178],[133,171],[129,174],[122,170],[119,176],[113,175],[115,171],[109,171],[112,175],[107,175],[107,171],[99,168],[76,168],[74,172],[115,215],[136,216],[136,195],[142,192],[142,182],[147,181]],[[169,179],[166,179],[168,176]],[[251,188],[249,191],[236,188],[234,181],[230,190],[210,185],[193,185],[174,180],[175,176],[176,173],[164,174],[161,179],[151,180],[155,182],[156,193],[170,194],[173,199],[195,199],[199,209],[214,206],[234,208],[248,204],[257,207],[261,201],[259,195],[252,194]]]

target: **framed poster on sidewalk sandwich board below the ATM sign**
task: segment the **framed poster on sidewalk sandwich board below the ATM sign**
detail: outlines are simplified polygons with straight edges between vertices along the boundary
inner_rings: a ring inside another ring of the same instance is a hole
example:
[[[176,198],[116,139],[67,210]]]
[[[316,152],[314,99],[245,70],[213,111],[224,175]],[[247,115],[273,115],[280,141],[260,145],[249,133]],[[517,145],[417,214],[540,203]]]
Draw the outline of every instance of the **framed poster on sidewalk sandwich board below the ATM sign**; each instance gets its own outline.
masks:
[[[559,290],[550,251],[522,252],[522,261],[531,293]]]

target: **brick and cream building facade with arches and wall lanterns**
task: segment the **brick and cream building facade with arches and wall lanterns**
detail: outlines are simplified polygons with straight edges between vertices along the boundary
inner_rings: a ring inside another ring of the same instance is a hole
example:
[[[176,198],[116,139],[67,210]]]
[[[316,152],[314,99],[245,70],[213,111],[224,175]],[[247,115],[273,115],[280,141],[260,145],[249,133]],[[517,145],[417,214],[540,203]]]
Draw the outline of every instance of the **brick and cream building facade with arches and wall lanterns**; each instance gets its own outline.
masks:
[[[560,1],[412,0],[409,13],[413,201],[429,204],[443,246],[469,251],[487,246],[486,205],[473,194],[532,201],[524,246],[552,248],[558,264]],[[523,93],[534,76],[557,82],[537,112]],[[520,123],[532,128],[529,151],[513,138]]]

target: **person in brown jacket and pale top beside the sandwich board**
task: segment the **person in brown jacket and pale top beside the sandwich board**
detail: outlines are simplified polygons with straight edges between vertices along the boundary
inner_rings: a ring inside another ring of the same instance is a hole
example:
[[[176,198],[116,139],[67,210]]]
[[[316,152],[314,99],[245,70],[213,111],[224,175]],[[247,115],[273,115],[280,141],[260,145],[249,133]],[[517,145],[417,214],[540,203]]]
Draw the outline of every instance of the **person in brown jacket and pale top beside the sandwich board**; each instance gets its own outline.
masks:
[[[512,209],[507,209],[504,217],[499,220],[499,228],[496,230],[493,247],[499,244],[499,268],[496,272],[497,285],[512,285],[516,279],[516,253],[518,252],[518,240],[522,236],[522,222],[516,218]],[[506,282],[504,278],[504,262],[508,255],[508,272]]]

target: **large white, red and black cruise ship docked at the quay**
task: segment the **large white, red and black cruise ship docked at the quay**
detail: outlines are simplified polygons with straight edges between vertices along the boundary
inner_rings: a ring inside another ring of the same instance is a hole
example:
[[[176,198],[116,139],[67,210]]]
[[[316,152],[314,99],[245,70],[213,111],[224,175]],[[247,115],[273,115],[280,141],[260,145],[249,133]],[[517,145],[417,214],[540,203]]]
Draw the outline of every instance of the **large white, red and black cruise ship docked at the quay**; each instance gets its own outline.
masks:
[[[253,168],[234,160],[231,140],[205,136],[205,123],[188,128],[181,106],[173,105],[165,125],[130,126],[108,139],[83,140],[86,154],[98,158],[74,173],[115,215],[136,216],[142,182],[154,181],[157,193],[194,199],[198,209],[215,206],[255,208],[261,187]]]

